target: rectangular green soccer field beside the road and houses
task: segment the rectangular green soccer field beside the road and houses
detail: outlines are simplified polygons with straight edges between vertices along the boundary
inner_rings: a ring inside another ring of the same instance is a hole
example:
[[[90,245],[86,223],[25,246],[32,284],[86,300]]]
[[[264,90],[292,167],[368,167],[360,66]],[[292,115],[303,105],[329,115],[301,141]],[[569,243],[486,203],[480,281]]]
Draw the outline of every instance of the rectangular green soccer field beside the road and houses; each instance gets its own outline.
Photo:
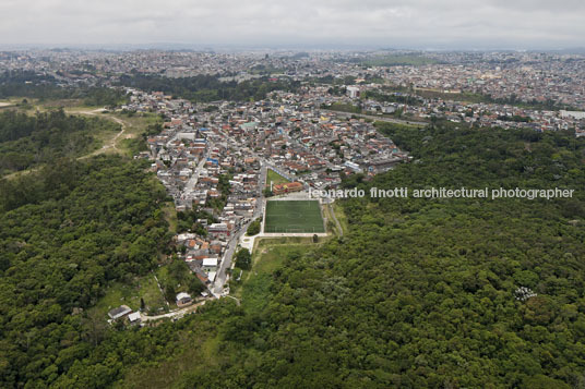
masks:
[[[264,232],[325,232],[319,202],[267,202]]]

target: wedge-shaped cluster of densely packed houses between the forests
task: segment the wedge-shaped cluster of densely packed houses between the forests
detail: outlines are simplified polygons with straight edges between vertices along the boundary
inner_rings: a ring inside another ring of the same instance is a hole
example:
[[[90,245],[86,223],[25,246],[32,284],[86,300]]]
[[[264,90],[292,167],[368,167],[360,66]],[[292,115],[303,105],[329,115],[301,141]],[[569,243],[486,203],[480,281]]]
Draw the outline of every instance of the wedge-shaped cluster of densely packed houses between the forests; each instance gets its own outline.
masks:
[[[290,181],[272,187],[274,194],[286,194],[308,186],[333,189],[343,174],[373,175],[409,159],[371,123],[322,110],[318,96],[323,88],[210,105],[128,92],[130,104],[123,109],[166,118],[142,156],[152,160],[177,210],[211,216],[198,219],[196,230],[176,236],[184,247],[181,258],[207,285],[235,236],[260,216],[267,169]]]

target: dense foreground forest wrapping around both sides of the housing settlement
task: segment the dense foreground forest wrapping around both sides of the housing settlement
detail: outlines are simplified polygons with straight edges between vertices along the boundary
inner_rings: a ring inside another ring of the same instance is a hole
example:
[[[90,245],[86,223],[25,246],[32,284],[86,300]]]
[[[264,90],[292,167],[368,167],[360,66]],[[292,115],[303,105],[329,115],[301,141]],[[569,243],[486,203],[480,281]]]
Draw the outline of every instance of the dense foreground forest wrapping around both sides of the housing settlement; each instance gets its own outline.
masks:
[[[241,305],[223,299],[176,324],[123,330],[71,309],[150,269],[165,243],[164,191],[116,158],[63,162],[38,189],[23,191],[31,179],[0,194],[12,198],[0,218],[4,386],[582,387],[584,139],[446,123],[380,131],[415,160],[344,186],[575,197],[344,200],[347,233],[284,247],[268,272],[253,264],[261,276],[243,284]],[[44,195],[16,202],[23,192]],[[521,299],[521,287],[536,295]]]

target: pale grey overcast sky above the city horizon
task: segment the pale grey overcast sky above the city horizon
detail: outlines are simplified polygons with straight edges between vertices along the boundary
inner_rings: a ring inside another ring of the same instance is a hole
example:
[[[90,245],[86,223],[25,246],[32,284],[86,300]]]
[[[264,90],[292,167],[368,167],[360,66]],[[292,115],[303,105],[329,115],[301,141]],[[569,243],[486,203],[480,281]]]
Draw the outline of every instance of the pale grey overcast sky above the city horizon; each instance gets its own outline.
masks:
[[[585,46],[584,0],[0,0],[0,45]]]

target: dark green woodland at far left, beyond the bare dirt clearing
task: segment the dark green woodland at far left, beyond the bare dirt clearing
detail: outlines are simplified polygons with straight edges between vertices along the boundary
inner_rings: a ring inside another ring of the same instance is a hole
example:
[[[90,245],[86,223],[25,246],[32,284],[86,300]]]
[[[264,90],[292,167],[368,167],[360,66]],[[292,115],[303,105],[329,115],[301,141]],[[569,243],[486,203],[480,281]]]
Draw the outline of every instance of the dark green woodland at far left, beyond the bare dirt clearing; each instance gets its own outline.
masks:
[[[0,73],[0,98],[27,97],[41,101],[53,99],[81,99],[86,106],[118,106],[126,104],[123,90],[105,86],[69,87],[59,85],[50,75],[32,71],[5,71]]]

